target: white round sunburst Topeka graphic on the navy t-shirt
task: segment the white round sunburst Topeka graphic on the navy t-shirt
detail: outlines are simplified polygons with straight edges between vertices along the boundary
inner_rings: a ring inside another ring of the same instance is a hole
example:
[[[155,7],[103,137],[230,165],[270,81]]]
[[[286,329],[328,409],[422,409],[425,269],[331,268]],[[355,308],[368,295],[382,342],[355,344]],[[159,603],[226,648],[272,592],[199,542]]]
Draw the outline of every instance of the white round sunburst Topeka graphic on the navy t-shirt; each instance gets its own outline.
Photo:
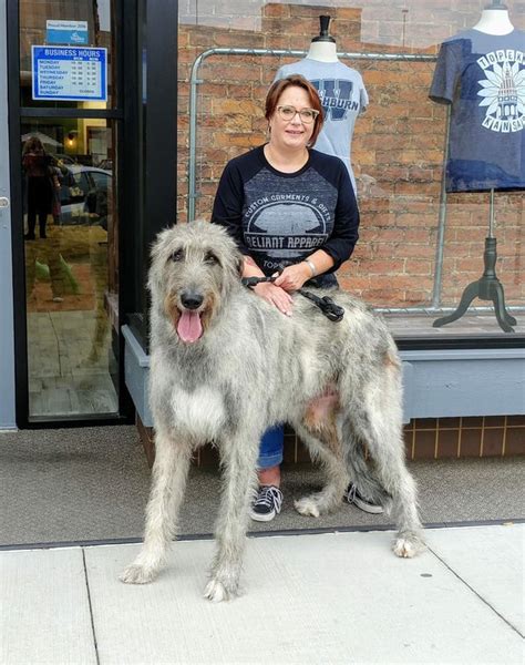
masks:
[[[477,60],[485,79],[478,81],[486,106],[483,126],[492,132],[521,132],[525,126],[525,58],[523,51],[501,49]]]

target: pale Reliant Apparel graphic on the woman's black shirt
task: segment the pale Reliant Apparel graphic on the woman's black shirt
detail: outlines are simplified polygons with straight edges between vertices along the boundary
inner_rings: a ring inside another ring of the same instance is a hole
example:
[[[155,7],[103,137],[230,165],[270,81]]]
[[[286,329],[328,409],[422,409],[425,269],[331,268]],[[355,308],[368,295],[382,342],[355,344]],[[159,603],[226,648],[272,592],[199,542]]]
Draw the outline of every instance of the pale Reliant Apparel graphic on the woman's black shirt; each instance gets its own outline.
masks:
[[[244,239],[254,253],[276,268],[323,245],[330,233],[330,212],[316,196],[271,194],[254,201],[245,212]],[[272,260],[274,259],[274,260]]]

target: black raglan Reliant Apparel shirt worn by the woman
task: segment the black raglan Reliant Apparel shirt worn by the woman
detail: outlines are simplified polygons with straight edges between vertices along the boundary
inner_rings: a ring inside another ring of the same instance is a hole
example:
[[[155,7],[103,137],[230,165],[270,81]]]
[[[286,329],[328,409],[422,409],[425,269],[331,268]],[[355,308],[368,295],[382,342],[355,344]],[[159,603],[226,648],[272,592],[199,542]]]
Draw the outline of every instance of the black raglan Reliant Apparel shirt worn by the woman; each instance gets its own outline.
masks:
[[[310,150],[300,171],[281,173],[268,163],[262,147],[228,162],[212,222],[224,226],[265,275],[274,274],[281,262],[298,263],[316,249],[333,258],[333,273],[350,257],[359,237],[358,206],[343,162]],[[316,282],[325,287],[337,284],[327,274]]]

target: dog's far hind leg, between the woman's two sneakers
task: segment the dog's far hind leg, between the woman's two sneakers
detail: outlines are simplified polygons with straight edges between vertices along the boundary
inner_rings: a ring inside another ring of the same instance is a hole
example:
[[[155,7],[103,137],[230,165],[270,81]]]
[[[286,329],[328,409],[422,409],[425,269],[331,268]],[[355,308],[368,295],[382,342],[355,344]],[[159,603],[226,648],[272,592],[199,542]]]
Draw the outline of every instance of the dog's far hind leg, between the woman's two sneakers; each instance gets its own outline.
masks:
[[[347,489],[349,475],[342,459],[341,441],[334,421],[328,427],[312,429],[301,423],[294,423],[297,434],[308,447],[313,459],[321,462],[327,477],[326,485],[320,492],[303,497],[294,502],[301,515],[318,518],[334,510]]]

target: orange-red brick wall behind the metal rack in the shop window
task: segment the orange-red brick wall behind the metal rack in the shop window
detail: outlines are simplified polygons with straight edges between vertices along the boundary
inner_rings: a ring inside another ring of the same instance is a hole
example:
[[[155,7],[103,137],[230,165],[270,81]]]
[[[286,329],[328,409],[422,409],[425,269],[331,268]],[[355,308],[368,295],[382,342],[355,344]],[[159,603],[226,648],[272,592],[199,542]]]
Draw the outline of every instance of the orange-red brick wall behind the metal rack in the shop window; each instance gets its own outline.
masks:
[[[387,2],[353,7],[210,1],[182,7],[179,27],[178,218],[187,213],[189,72],[213,47],[306,50],[319,14],[332,17],[338,50],[435,54],[441,41],[475,24],[484,0]],[[344,4],[341,2],[341,4]],[[509,2],[517,28],[525,3]],[[409,9],[403,12],[403,9]],[[403,43],[404,42],[404,43]],[[275,72],[297,58],[213,55],[199,70],[197,216],[208,218],[226,162],[266,137],[262,105]],[[340,270],[342,286],[375,306],[429,304],[442,177],[445,108],[430,102],[432,62],[346,61],[361,71],[370,95],[352,143],[362,215],[361,239]],[[496,195],[498,276],[508,304],[523,303],[524,203],[521,193]],[[488,196],[450,195],[443,264],[443,304],[455,304],[483,272]]]

